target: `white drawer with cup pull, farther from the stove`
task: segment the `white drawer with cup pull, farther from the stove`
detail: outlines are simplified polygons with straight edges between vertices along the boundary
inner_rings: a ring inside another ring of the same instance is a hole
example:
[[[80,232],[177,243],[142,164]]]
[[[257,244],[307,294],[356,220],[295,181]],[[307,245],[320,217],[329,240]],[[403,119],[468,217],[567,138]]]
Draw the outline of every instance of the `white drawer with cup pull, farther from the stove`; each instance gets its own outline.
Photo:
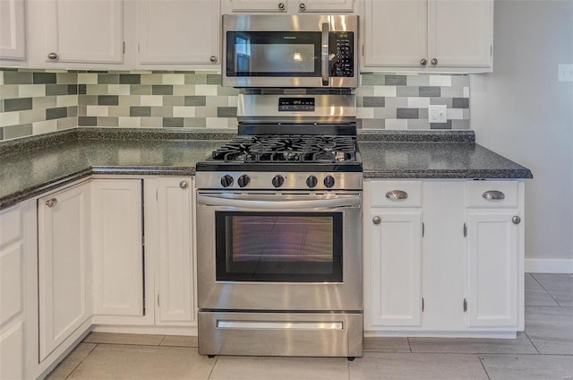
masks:
[[[516,208],[518,181],[472,181],[467,183],[467,207]]]

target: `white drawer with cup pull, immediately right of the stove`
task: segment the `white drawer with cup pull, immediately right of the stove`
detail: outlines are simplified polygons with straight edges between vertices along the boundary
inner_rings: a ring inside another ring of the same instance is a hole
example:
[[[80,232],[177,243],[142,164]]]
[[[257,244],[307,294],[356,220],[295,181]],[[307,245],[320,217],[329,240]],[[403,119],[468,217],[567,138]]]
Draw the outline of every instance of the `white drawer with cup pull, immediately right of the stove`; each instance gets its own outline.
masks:
[[[372,207],[422,206],[422,181],[372,181]]]

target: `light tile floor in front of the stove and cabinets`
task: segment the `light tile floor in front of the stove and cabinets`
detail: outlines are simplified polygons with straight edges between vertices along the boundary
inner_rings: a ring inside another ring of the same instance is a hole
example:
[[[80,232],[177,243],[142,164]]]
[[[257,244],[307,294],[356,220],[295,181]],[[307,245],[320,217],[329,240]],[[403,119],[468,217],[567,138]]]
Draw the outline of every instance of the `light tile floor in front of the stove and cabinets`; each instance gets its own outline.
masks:
[[[56,379],[573,380],[573,275],[526,274],[516,340],[366,338],[363,358],[216,357],[196,337],[92,332]]]

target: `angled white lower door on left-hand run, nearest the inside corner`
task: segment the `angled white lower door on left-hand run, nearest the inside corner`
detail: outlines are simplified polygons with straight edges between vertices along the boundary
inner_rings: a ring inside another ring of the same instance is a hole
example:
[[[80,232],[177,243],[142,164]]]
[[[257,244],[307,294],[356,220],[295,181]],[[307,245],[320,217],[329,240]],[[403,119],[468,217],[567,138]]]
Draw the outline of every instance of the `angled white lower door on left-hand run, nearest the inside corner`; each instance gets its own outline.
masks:
[[[38,200],[39,359],[90,317],[90,184]]]

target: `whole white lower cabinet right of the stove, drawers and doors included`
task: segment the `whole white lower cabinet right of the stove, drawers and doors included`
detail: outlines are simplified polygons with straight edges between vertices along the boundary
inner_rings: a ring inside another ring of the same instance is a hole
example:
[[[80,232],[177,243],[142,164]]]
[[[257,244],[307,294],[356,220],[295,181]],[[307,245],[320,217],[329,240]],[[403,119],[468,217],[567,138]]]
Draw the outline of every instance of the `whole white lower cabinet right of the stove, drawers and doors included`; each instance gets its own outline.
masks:
[[[366,181],[366,333],[522,331],[523,198],[520,181]]]

